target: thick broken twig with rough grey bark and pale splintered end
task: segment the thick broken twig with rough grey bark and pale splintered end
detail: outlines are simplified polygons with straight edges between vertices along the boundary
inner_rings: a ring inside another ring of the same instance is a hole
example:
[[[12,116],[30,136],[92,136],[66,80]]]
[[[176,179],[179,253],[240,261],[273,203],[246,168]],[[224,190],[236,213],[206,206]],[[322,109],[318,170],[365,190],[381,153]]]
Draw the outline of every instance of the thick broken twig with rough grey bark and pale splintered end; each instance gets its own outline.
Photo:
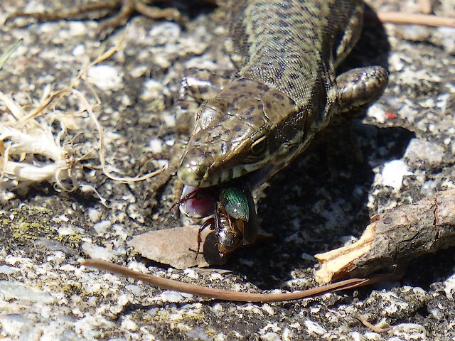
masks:
[[[316,254],[316,281],[366,277],[423,254],[455,246],[455,190],[445,190],[373,217],[354,244]]]

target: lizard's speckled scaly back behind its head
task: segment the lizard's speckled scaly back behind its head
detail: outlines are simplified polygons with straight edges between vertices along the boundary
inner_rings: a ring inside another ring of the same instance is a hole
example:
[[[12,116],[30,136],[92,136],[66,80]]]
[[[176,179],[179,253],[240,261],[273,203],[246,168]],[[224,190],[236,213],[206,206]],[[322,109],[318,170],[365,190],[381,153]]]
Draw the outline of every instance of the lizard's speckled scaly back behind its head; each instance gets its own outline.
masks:
[[[361,1],[232,2],[231,55],[238,75],[273,85],[299,107],[309,102],[321,78],[331,85],[333,66],[360,35],[347,23],[362,25]]]

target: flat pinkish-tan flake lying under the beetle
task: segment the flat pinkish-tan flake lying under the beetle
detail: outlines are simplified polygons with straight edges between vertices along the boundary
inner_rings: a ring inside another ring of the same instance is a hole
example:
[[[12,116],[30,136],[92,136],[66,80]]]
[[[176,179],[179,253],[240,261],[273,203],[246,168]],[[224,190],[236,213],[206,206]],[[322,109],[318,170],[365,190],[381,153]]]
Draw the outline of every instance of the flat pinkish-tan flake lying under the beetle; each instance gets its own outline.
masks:
[[[215,232],[210,229],[204,229],[200,234],[202,242],[196,258],[198,232],[198,225],[160,229],[139,234],[128,244],[141,256],[176,269],[225,264],[227,257],[220,257]]]

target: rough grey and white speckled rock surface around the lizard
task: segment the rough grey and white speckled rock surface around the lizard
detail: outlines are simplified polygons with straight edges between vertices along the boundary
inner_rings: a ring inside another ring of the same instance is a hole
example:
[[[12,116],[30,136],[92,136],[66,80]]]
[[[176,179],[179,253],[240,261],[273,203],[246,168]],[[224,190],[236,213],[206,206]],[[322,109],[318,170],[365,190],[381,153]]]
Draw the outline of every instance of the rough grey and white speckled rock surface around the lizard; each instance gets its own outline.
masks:
[[[18,9],[60,11],[65,6],[56,1],[7,0],[0,7],[0,21]],[[382,11],[417,10],[412,1],[374,6]],[[451,0],[439,1],[434,12],[455,17],[454,8]],[[73,80],[81,95],[65,92],[38,119],[53,134],[46,141],[54,140],[50,145],[61,147],[63,161],[71,161],[73,183],[64,172],[56,177],[50,172],[52,183],[26,181],[26,176],[38,176],[36,168],[19,181],[3,179],[0,336],[452,340],[453,249],[411,261],[400,283],[269,304],[211,301],[162,291],[80,265],[83,259],[102,258],[167,278],[238,291],[311,288],[317,285],[314,254],[352,242],[377,213],[455,188],[455,29],[368,22],[346,67],[383,65],[390,70],[390,84],[366,117],[355,122],[353,139],[363,162],[355,161],[342,134],[321,134],[311,151],[257,193],[261,227],[272,239],[237,252],[222,269],[180,271],[141,258],[127,246],[132,237],[183,224],[176,210],[169,212],[178,156],[188,139],[186,119],[176,120],[174,111],[180,79],[190,67],[232,70],[223,46],[224,10],[187,4],[181,11],[189,18],[184,26],[134,16],[127,28],[105,40],[96,34],[99,23],[90,20],[35,23],[18,18],[1,26],[1,52],[23,38],[0,70],[3,124],[11,117],[13,104],[8,98],[30,113],[46,94],[67,88]],[[117,53],[75,80],[79,70],[117,46],[122,37]],[[105,175],[96,149],[97,125],[82,100],[93,107],[95,94],[100,105],[93,115],[105,134],[107,171],[132,177],[168,165],[165,171],[134,183]],[[29,128],[33,126],[28,122]],[[62,126],[63,135],[55,142]],[[45,135],[45,129],[31,129]],[[4,140],[6,145],[9,139]],[[51,147],[33,135],[31,141],[41,155],[16,155],[13,161],[29,166],[34,158],[52,165],[43,152]],[[336,148],[327,148],[328,144]],[[335,149],[334,155],[328,156],[328,149]],[[3,144],[1,153],[6,153]],[[55,180],[61,180],[60,185]],[[72,192],[63,190],[75,185]],[[380,332],[359,317],[391,328]]]

